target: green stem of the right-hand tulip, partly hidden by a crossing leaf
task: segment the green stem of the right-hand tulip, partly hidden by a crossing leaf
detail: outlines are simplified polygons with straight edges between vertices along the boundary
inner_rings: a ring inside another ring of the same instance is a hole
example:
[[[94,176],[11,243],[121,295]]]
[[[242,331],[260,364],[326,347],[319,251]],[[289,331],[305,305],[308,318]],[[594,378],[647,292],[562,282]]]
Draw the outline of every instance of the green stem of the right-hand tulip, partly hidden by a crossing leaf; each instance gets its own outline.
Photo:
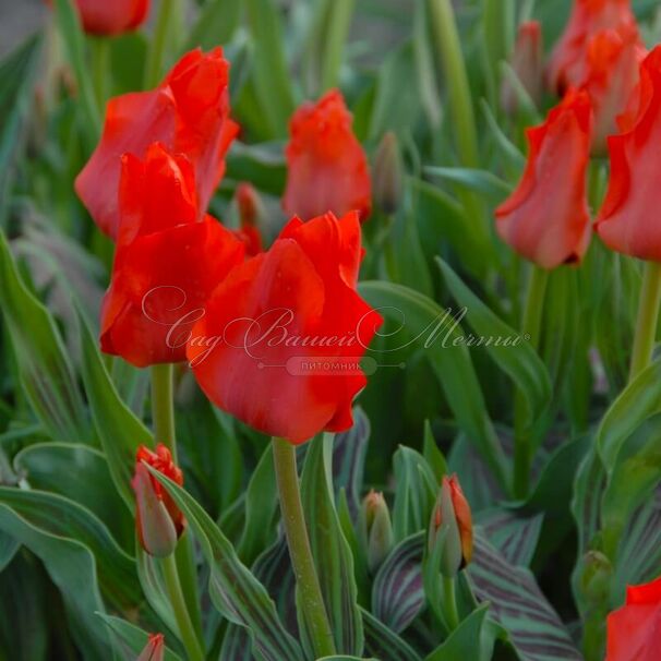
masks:
[[[533,349],[539,348],[548,283],[549,272],[533,266],[528,280],[528,293],[521,323],[521,332],[527,336]],[[532,464],[530,429],[526,424],[525,416],[524,393],[517,390],[514,399],[514,495],[518,498],[525,498],[528,495]]]

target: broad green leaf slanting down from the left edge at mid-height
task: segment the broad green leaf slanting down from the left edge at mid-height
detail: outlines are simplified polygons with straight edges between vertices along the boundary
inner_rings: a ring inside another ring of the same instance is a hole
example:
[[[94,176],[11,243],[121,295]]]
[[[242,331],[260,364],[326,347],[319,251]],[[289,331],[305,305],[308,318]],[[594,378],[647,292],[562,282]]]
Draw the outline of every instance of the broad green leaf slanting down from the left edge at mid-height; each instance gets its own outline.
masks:
[[[92,433],[71,359],[52,316],[21,279],[1,232],[0,308],[21,385],[44,428],[57,441],[89,442]]]

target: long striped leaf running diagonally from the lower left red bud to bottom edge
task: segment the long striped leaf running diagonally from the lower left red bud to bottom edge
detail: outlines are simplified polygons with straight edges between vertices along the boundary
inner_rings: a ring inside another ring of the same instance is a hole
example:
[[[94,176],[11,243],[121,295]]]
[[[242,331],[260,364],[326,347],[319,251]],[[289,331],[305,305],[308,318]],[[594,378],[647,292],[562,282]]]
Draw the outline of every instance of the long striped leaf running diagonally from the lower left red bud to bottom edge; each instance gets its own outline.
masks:
[[[199,503],[157,470],[152,474],[183,512],[211,567],[209,594],[216,609],[251,635],[252,646],[265,661],[303,661],[299,644],[278,618],[266,588],[241,563],[229,540]]]

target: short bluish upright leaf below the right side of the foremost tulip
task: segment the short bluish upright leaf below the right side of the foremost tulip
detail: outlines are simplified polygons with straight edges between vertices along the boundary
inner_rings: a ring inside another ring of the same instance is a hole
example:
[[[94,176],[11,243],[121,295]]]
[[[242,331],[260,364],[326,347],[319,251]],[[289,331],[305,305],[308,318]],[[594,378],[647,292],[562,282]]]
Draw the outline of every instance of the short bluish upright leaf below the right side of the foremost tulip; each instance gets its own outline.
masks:
[[[356,520],[360,507],[365,456],[370,440],[370,420],[360,408],[353,409],[353,425],[337,434],[333,445],[333,484],[336,497],[345,490],[351,517]]]

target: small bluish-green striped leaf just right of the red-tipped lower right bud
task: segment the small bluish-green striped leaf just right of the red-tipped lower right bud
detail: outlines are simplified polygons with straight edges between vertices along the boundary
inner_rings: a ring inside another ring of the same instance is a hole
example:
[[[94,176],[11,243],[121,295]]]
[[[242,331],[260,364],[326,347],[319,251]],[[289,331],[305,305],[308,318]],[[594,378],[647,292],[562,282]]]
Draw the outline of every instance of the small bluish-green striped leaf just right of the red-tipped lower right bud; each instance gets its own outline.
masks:
[[[482,528],[484,537],[505,560],[512,565],[524,567],[530,564],[534,555],[543,520],[543,514],[522,518],[510,509],[502,507],[482,510],[476,517],[476,522]]]

